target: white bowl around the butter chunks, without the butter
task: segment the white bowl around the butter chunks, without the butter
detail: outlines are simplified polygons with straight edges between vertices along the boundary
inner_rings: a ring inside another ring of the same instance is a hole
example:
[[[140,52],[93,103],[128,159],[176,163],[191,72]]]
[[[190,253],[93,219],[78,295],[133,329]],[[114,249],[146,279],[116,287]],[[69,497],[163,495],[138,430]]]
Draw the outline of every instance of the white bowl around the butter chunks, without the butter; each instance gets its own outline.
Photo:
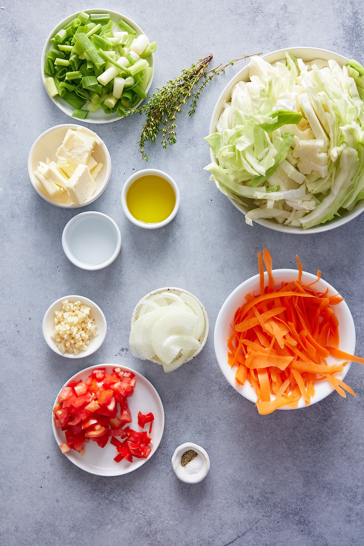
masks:
[[[47,129],[44,131],[44,133],[38,136],[37,140],[35,140],[28,155],[28,176],[29,180],[32,182],[33,188],[41,198],[47,201],[47,203],[62,207],[63,209],[78,209],[81,206],[86,206],[93,203],[93,201],[100,197],[105,190],[111,175],[111,158],[109,150],[106,148],[104,143],[96,144],[93,149],[92,157],[98,163],[103,163],[104,166],[96,176],[96,190],[89,199],[86,199],[85,203],[82,205],[72,203],[66,191],[64,191],[59,197],[52,199],[43,189],[43,186],[41,186],[39,180],[34,174],[34,171],[38,167],[38,163],[40,161],[45,162],[46,157],[49,157],[52,161],[57,162],[58,158],[56,156],[56,151],[58,147],[61,146],[65,134],[67,133],[68,129],[77,129],[77,127],[82,126],[75,125],[73,123],[65,123],[63,125],[56,125],[55,127]],[[86,127],[82,127],[82,129],[89,131],[89,129]]]

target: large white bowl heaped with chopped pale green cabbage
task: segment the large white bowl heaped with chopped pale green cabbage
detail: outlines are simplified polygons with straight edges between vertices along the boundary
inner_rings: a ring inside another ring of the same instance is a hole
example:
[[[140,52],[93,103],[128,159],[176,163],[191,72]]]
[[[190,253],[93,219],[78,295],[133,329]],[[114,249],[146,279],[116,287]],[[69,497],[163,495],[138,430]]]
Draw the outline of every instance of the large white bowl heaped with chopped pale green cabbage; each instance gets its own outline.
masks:
[[[316,48],[254,57],[214,108],[210,180],[257,222],[317,233],[364,210],[364,68]]]

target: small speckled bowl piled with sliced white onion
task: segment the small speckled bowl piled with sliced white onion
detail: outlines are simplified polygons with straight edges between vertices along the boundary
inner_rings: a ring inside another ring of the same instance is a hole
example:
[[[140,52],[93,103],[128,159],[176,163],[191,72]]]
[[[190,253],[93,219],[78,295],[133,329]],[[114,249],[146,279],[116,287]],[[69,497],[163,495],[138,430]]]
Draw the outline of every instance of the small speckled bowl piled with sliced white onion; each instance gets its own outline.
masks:
[[[205,307],[183,288],[158,288],[136,304],[130,320],[134,357],[177,370],[206,345],[210,323]]]

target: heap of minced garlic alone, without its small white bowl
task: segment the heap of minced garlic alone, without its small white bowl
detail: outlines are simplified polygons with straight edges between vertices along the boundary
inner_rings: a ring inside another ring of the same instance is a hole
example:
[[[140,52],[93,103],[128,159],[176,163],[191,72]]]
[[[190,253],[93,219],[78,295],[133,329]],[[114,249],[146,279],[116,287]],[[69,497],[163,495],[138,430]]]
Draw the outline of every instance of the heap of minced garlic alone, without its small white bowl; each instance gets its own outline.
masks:
[[[55,311],[55,330],[52,339],[61,353],[79,354],[86,351],[92,336],[96,336],[97,325],[89,316],[91,307],[82,301],[62,301],[62,310]]]

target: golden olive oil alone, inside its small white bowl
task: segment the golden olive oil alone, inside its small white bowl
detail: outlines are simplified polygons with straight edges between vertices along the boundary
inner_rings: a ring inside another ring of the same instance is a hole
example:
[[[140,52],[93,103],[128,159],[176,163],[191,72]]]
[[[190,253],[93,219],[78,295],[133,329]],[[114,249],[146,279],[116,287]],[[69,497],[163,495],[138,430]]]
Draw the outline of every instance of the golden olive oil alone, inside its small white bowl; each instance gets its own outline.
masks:
[[[130,213],[146,224],[163,222],[176,204],[176,194],[170,183],[157,175],[145,175],[135,180],[127,192]]]

